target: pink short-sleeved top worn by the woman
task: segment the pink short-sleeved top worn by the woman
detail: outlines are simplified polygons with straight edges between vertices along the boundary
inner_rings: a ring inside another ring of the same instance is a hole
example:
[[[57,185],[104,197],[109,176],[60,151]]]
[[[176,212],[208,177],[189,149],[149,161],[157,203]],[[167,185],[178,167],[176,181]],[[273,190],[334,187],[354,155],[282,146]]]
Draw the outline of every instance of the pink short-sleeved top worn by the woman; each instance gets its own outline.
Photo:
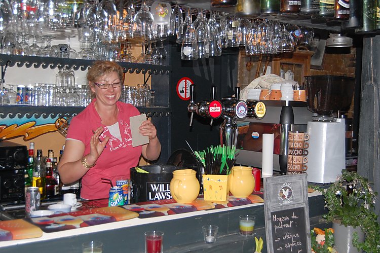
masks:
[[[107,198],[110,185],[102,183],[101,178],[112,180],[116,186],[116,179],[129,178],[129,169],[137,166],[142,147],[132,147],[132,135],[129,124],[129,117],[139,115],[139,111],[131,104],[117,102],[119,109],[118,122],[122,140],[112,136],[108,128],[101,123],[94,99],[86,108],[71,119],[67,132],[67,138],[80,140],[85,143],[85,153],[90,153],[90,138],[93,130],[103,126],[104,131],[100,139],[109,136],[108,143],[96,161],[96,165],[82,177],[81,197],[84,199]]]

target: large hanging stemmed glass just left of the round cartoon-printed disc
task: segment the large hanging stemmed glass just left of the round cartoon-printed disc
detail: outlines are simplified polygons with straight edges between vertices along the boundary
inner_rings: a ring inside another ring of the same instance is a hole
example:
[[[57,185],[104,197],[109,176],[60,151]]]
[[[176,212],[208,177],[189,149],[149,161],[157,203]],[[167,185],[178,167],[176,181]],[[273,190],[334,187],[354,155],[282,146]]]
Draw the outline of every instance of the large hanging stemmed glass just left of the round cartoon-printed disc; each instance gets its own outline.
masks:
[[[142,0],[140,10],[133,19],[133,37],[143,37],[145,41],[155,38],[155,30],[153,26],[153,15],[149,11],[145,0]]]

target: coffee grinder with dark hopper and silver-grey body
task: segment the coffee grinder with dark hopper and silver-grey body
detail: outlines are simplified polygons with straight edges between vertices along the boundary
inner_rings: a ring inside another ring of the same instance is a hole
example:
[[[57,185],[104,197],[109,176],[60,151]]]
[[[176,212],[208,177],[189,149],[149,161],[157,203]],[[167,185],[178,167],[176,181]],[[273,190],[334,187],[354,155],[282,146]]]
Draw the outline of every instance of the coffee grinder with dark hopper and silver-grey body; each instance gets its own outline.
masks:
[[[308,181],[331,183],[346,164],[345,119],[355,79],[340,76],[305,77],[308,109],[316,116],[308,122]]]

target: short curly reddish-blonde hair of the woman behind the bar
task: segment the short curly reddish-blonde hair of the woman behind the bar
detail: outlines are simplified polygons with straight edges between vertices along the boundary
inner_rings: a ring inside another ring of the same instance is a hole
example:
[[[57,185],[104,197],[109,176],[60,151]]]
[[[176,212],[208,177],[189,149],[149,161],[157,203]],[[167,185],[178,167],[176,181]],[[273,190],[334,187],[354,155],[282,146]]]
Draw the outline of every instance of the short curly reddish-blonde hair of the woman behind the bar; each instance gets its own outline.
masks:
[[[120,80],[123,81],[123,68],[118,63],[113,61],[95,61],[87,72],[87,80],[96,83],[99,81],[99,78],[113,71],[118,73]]]

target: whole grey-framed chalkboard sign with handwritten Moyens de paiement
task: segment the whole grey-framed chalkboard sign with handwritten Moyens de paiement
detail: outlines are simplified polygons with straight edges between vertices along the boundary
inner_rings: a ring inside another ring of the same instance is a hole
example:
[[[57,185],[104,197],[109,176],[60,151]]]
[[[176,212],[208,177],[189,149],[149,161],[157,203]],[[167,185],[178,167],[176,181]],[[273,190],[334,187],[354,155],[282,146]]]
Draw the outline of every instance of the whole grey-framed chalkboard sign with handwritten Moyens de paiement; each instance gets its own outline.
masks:
[[[268,252],[311,252],[307,175],[264,178]]]

